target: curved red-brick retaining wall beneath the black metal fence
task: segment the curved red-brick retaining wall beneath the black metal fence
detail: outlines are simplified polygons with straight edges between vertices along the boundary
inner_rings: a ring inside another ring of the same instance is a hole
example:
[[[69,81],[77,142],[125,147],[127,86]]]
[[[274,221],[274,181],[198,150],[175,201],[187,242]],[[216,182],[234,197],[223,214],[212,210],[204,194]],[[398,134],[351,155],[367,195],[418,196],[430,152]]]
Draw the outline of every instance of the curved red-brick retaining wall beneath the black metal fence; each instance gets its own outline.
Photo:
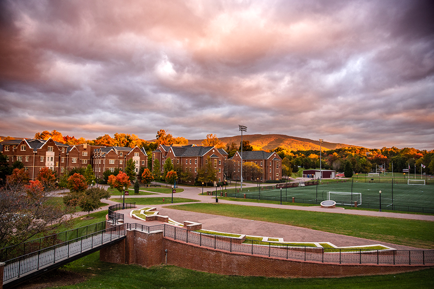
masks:
[[[100,259],[106,262],[139,264],[151,267],[165,263],[196,271],[265,277],[344,277],[395,274],[417,271],[430,265],[336,264],[269,258],[250,254],[213,250],[163,237],[162,231],[127,230],[124,242],[106,247]],[[126,259],[122,251],[126,248]]]

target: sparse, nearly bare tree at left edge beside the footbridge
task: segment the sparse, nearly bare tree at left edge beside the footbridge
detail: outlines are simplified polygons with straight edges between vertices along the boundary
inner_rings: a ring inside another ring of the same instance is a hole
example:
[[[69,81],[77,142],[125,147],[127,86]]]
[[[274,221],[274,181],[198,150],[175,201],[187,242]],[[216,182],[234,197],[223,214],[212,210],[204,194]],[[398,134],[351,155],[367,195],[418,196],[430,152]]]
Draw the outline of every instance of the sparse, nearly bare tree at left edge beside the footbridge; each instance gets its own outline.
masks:
[[[47,234],[67,221],[62,205],[50,201],[51,192],[44,191],[39,181],[27,185],[24,174],[15,177],[20,176],[24,180],[7,178],[0,188],[0,248]]]

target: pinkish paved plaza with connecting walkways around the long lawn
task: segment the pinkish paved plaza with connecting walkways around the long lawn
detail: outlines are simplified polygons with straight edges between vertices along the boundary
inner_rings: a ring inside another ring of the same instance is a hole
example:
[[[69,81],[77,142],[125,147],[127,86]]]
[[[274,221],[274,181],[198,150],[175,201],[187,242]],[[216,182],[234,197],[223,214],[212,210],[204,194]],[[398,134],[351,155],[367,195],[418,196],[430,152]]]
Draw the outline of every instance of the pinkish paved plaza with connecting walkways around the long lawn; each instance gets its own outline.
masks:
[[[255,186],[254,184],[246,184],[248,186]],[[174,194],[174,197],[177,198],[192,198],[197,199],[206,203],[215,203],[215,196],[206,196],[201,195],[202,188],[201,187],[182,187],[184,191],[181,193]],[[212,189],[212,188],[211,188]],[[145,191],[146,188],[140,188],[140,190]],[[204,194],[210,188],[204,188]],[[214,191],[215,192],[215,191]],[[161,194],[154,193],[155,195],[138,195],[138,196],[128,196],[127,198],[155,198],[162,197],[170,201],[171,194]],[[120,198],[120,196],[113,196],[112,198]],[[118,202],[112,200],[103,200],[105,203],[109,203],[109,205],[97,210],[107,210],[108,207],[112,204],[117,204]],[[262,206],[269,208],[280,208],[280,209],[288,209],[288,210],[303,210],[303,211],[314,211],[314,212],[327,212],[327,213],[347,213],[347,214],[358,214],[358,215],[370,215],[370,216],[382,216],[382,217],[391,217],[391,218],[406,218],[406,219],[416,219],[416,220],[427,220],[434,221],[434,216],[432,215],[417,215],[417,214],[405,214],[405,213],[386,213],[386,212],[374,212],[374,211],[359,211],[359,210],[344,210],[342,208],[336,209],[325,209],[320,206],[312,206],[312,207],[300,207],[300,206],[291,206],[291,205],[279,205],[279,204],[265,204],[265,203],[251,203],[251,202],[237,202],[237,201],[228,201],[219,199],[219,203],[229,203],[229,204],[237,204],[237,205],[246,205],[246,206]],[[173,205],[179,205],[180,203],[175,203]],[[368,239],[344,236],[329,232],[323,232],[319,230],[313,230],[308,228],[299,228],[288,225],[281,225],[263,221],[253,221],[247,219],[238,219],[233,217],[226,216],[218,216],[213,214],[206,213],[194,213],[194,212],[186,212],[171,209],[170,206],[172,204],[164,204],[164,205],[153,205],[153,207],[157,208],[159,214],[168,215],[171,219],[182,223],[183,221],[193,221],[202,223],[203,229],[216,230],[220,232],[229,232],[229,233],[239,233],[246,234],[249,236],[264,236],[264,237],[274,237],[274,238],[283,238],[285,242],[319,242],[325,243],[330,242],[337,246],[357,246],[357,245],[372,245],[372,244],[384,244],[390,246],[395,249],[400,250],[408,250],[414,249],[408,246],[402,246],[397,244],[385,243],[372,241]],[[145,207],[143,205],[142,207]],[[140,205],[138,206],[140,208]],[[160,222],[140,222],[137,219],[132,219],[129,217],[130,209],[117,211],[118,213],[123,213],[125,216],[125,222],[127,223],[145,223],[148,226],[161,224]],[[76,213],[76,215],[86,215],[85,212]]]

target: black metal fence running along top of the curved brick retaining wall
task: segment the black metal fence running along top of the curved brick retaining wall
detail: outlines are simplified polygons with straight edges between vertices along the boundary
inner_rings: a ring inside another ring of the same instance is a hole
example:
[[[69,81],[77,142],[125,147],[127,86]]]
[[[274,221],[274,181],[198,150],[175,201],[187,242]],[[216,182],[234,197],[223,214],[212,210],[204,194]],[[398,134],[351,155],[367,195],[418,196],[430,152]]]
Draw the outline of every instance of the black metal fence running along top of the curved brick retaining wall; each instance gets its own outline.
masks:
[[[154,226],[148,231],[161,229]],[[308,246],[294,246],[283,243],[243,240],[225,236],[211,235],[164,225],[164,236],[203,247],[261,255],[281,259],[330,263],[359,264],[426,264],[434,263],[434,250],[372,250],[372,249],[336,249]]]

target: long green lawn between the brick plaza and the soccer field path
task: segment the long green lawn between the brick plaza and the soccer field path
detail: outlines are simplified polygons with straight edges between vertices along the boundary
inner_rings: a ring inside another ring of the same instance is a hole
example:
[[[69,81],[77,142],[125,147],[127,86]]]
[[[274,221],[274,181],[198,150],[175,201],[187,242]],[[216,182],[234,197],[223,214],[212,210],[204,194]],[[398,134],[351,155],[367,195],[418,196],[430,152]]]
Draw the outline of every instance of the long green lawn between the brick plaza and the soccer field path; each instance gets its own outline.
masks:
[[[172,206],[171,209],[311,228],[417,248],[434,248],[434,222],[430,221],[308,212],[222,203],[176,205]]]

